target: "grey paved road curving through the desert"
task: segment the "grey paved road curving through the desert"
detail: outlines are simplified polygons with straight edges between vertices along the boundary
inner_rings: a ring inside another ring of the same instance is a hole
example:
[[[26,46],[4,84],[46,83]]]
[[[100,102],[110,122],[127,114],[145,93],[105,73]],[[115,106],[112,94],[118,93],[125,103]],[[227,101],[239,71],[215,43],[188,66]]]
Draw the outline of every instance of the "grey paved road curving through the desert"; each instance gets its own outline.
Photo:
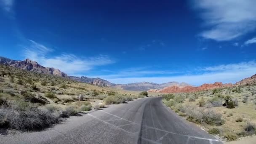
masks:
[[[177,116],[161,97],[112,105],[46,131],[0,136],[0,144],[222,144]]]

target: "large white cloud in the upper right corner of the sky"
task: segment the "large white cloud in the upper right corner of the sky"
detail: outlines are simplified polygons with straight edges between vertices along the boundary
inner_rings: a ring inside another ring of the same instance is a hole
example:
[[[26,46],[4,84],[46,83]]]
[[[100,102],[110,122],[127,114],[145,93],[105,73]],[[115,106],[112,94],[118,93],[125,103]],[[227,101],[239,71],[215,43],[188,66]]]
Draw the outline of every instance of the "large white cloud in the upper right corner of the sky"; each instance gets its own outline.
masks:
[[[200,35],[206,39],[232,40],[256,28],[256,0],[194,0],[193,4],[203,10],[209,29]]]

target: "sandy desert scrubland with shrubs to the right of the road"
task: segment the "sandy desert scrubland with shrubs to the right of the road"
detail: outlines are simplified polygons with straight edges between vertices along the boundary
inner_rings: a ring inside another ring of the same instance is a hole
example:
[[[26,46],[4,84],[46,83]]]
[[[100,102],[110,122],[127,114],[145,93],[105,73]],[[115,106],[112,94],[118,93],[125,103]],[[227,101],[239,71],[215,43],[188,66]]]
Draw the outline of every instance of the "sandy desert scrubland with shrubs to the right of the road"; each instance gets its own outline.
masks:
[[[224,141],[256,134],[256,85],[194,93],[163,94],[163,103],[179,116]]]

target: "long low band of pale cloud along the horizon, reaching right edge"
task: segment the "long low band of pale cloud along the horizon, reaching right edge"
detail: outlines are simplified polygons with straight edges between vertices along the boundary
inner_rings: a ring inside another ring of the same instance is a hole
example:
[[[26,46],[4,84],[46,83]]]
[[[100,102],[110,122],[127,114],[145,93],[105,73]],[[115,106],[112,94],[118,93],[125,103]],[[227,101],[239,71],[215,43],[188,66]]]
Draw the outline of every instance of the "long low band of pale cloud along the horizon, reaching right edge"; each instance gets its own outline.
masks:
[[[186,74],[187,73],[187,74]],[[188,74],[189,73],[189,74]],[[240,62],[236,64],[221,64],[211,67],[192,69],[190,72],[172,72],[167,70],[123,69],[116,74],[99,75],[112,83],[137,83],[148,81],[153,83],[167,83],[170,81],[187,82],[192,85],[203,83],[235,83],[256,73],[256,61]],[[92,76],[93,77],[93,76]]]

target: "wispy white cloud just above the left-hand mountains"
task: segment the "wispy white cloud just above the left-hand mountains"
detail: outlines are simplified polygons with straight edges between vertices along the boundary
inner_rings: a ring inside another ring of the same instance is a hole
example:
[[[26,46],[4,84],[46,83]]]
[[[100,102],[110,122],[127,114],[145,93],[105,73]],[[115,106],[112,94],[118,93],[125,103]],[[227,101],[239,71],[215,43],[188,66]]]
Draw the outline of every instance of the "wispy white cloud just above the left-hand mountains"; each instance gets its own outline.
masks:
[[[112,64],[115,61],[106,55],[96,57],[79,58],[73,54],[61,53],[58,56],[51,56],[54,50],[45,45],[29,40],[30,45],[24,47],[24,55],[33,61],[37,61],[44,67],[54,67],[67,73],[68,75],[77,74],[93,69],[97,66]]]

